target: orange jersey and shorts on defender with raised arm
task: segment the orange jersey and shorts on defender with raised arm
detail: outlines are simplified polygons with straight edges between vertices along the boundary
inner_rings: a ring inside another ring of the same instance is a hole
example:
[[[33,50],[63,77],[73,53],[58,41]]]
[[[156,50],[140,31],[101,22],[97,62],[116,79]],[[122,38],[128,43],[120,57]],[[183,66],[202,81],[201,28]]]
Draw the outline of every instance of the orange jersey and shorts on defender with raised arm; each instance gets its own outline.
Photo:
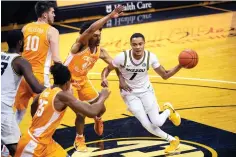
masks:
[[[99,56],[99,46],[96,53],[92,53],[88,47],[80,53],[70,54],[64,63],[71,72],[72,86],[81,101],[92,102],[99,96],[87,77],[89,70],[93,68]]]

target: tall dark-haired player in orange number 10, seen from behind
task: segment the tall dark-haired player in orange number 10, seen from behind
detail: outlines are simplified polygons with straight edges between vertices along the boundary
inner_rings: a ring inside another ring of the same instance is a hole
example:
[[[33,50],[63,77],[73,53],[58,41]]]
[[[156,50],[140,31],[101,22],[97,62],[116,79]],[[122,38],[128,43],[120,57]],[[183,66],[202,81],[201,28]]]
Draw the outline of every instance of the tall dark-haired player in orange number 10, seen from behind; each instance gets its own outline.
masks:
[[[38,17],[36,22],[29,23],[22,28],[24,34],[23,57],[30,62],[34,75],[45,87],[49,87],[49,68],[52,60],[61,62],[59,57],[59,32],[51,26],[54,22],[54,6],[48,1],[39,1],[35,5]],[[15,107],[17,122],[22,120],[29,99],[35,94],[23,79],[17,91]]]

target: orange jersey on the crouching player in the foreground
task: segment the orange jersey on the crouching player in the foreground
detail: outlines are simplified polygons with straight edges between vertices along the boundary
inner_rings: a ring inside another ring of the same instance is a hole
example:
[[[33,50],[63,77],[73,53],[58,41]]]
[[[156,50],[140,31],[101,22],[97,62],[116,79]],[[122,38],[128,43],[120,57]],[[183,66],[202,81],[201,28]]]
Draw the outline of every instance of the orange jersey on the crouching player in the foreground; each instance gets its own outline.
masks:
[[[60,91],[58,87],[47,88],[40,94],[39,106],[29,128],[29,134],[39,143],[51,142],[52,135],[65,114],[66,110],[58,112],[54,108],[54,98]]]

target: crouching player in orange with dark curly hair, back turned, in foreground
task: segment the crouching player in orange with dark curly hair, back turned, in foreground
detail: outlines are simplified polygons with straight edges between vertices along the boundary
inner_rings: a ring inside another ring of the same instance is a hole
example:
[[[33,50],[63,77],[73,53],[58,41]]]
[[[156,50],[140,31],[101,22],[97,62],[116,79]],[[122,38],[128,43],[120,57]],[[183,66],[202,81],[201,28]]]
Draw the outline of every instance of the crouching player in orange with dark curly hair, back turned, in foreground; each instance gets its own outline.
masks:
[[[110,95],[102,89],[96,103],[89,105],[77,100],[71,92],[71,74],[66,66],[55,63],[50,69],[54,85],[45,89],[34,101],[31,110],[32,124],[21,137],[15,157],[66,157],[66,151],[53,140],[52,136],[60,125],[67,106],[76,114],[88,117],[96,116],[104,107],[104,101]]]

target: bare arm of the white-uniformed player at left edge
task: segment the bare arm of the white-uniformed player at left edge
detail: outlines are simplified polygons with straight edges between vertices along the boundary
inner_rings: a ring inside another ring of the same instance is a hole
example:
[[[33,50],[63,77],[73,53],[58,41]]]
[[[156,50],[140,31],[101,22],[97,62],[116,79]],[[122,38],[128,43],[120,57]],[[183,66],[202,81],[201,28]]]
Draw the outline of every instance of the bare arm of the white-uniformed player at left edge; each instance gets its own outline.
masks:
[[[33,74],[30,63],[24,58],[16,58],[13,62],[13,68],[18,74],[24,76],[26,82],[29,84],[34,93],[41,93],[45,89],[43,85],[39,84]]]

